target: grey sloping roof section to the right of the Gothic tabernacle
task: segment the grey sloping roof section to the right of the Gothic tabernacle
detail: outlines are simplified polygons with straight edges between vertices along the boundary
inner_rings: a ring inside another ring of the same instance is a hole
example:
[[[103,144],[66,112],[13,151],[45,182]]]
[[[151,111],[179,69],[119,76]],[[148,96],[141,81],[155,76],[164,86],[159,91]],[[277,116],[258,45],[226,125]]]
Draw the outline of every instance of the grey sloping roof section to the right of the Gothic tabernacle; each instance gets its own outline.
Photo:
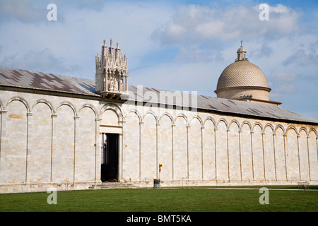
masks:
[[[196,95],[189,93],[189,95],[183,95],[186,100],[178,100],[179,92],[158,90],[155,88],[143,88],[143,93],[141,94],[141,88],[138,86],[130,85],[129,92],[134,95],[129,95],[129,100],[143,100],[147,102],[158,102],[158,104],[168,104],[168,105],[179,105],[184,107],[196,107],[197,109],[206,109],[214,112],[223,112],[229,114],[241,114],[247,117],[262,117],[266,119],[275,119],[277,121],[294,121],[294,122],[305,122],[318,124],[318,120],[306,117],[302,114],[291,112],[283,107],[278,107],[275,105],[265,105],[257,102],[245,102],[240,100],[230,100],[218,97],[208,97],[204,95]],[[155,95],[157,93],[158,101],[155,100]],[[150,92],[150,93],[148,93]],[[170,93],[170,94],[169,94]],[[168,96],[168,97],[167,97]],[[167,98],[165,98],[167,97]],[[170,98],[169,98],[170,97]],[[173,98],[172,98],[173,97]]]

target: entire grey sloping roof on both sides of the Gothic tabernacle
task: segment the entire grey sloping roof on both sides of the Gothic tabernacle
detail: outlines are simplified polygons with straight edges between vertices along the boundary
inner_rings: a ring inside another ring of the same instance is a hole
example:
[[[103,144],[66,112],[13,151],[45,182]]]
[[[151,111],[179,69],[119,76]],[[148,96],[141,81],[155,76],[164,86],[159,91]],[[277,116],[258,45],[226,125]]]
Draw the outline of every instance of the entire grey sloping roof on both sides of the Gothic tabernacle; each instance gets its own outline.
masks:
[[[0,67],[0,85],[36,90],[49,90],[101,97],[95,93],[95,81],[52,73],[33,72]],[[142,92],[141,92],[142,91]],[[182,98],[180,99],[179,97]],[[256,102],[244,102],[189,93],[180,93],[155,88],[129,85],[129,100],[143,100],[159,104],[194,107],[213,112],[240,114],[247,117],[261,117],[277,121],[318,124],[318,120],[306,117],[288,109]]]

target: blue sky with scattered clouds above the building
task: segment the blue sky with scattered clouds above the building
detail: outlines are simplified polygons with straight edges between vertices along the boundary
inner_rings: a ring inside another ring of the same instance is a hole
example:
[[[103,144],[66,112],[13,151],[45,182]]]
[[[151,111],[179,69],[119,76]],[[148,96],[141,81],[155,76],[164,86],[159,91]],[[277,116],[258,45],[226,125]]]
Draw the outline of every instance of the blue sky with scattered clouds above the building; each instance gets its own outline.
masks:
[[[317,25],[316,0],[0,0],[0,66],[94,80],[112,38],[129,85],[216,97],[243,40],[270,100],[318,119]]]

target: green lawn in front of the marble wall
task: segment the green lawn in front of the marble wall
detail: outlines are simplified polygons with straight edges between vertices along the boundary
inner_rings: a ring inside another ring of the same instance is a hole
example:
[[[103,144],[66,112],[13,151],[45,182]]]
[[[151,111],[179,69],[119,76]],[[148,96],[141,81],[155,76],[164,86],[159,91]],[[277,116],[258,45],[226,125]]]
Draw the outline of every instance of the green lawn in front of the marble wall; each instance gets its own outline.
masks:
[[[269,186],[267,186],[269,187]],[[258,186],[258,189],[260,187]],[[277,187],[275,187],[277,188]],[[261,205],[258,189],[105,189],[57,191],[57,205],[46,192],[0,194],[6,212],[317,212],[318,191],[269,190],[269,204]],[[295,188],[297,189],[297,188]]]

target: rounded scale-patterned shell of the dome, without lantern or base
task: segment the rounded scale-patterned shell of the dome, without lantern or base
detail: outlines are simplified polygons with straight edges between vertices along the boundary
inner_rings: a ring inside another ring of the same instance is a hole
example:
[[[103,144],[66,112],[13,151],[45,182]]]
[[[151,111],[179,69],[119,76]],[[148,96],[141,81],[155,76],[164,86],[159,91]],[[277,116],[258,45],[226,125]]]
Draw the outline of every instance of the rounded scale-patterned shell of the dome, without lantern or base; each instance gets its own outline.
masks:
[[[227,66],[218,78],[216,90],[242,86],[269,88],[265,74],[249,61],[235,61]]]

